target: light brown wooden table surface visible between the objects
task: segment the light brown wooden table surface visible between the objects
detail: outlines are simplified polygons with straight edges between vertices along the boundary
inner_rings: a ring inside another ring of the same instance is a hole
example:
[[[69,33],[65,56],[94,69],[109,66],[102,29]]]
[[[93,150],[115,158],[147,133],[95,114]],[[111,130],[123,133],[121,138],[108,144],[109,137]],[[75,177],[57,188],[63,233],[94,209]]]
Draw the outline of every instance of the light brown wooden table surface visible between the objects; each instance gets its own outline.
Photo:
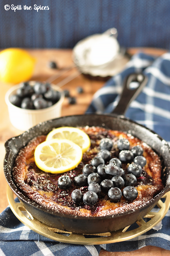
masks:
[[[134,54],[139,50],[139,48],[129,49],[130,54]],[[145,48],[142,49],[144,52],[154,55],[161,55],[166,50],[160,49],[151,49]],[[34,56],[37,60],[36,68],[34,71],[34,75],[32,80],[38,81],[46,81],[52,75],[61,74],[61,69],[71,66],[72,63],[72,50],[54,50],[54,49],[36,49],[36,50],[28,50],[32,56]],[[59,67],[59,70],[50,69],[48,67],[49,61],[56,61]],[[55,80],[55,84],[61,82],[63,79],[68,77],[70,74],[76,74],[76,68],[66,72],[60,78]],[[88,105],[92,100],[93,94],[103,86],[104,82],[97,80],[89,80],[80,74],[80,76],[76,77],[71,82],[68,82],[66,85],[62,87],[62,89],[70,90],[71,96],[75,96],[77,103],[75,105],[68,104],[68,99],[64,99],[64,103],[62,105],[62,116],[68,116],[72,114],[84,114]],[[12,84],[4,84],[0,82],[0,212],[2,212],[6,206],[8,206],[7,197],[6,197],[6,189],[7,182],[3,173],[3,160],[5,155],[4,142],[9,138],[19,135],[22,131],[14,128],[9,120],[8,108],[6,106],[4,96],[8,89],[12,86]],[[83,94],[78,94],[76,88],[78,86],[82,86],[84,89]],[[164,250],[161,248],[157,248],[154,246],[146,246],[136,251],[132,252],[106,252],[105,250],[101,250],[100,256],[129,256],[129,255],[147,255],[147,256],[160,256],[160,255],[170,255],[170,251]]]

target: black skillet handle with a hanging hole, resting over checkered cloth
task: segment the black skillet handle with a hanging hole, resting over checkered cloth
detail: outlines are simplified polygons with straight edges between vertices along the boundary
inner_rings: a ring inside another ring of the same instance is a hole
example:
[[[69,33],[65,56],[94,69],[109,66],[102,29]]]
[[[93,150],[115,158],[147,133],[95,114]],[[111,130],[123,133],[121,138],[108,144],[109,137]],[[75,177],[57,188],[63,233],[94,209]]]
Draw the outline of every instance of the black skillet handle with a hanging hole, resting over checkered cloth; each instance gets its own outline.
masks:
[[[123,84],[122,94],[120,95],[118,105],[111,113],[124,116],[128,106],[140,94],[147,81],[148,77],[141,73],[134,73],[127,76]],[[138,87],[132,88],[132,86],[135,85]]]

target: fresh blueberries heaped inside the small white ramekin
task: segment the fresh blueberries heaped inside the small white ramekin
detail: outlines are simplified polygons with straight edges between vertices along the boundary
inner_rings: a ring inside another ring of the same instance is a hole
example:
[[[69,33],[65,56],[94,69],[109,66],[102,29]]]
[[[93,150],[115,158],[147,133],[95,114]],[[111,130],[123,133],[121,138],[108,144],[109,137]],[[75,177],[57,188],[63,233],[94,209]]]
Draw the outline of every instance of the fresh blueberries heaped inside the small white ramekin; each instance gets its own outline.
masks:
[[[60,100],[60,92],[54,90],[50,84],[36,82],[33,86],[29,82],[23,82],[10,96],[10,102],[24,109],[42,109],[54,105]]]

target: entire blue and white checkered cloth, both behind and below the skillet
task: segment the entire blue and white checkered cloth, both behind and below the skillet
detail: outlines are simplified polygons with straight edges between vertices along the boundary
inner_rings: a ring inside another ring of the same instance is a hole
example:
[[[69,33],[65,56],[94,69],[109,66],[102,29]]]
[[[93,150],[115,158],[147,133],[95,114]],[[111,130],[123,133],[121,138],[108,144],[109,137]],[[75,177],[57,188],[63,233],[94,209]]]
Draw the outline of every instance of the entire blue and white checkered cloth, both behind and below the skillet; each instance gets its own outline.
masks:
[[[146,54],[136,54],[125,70],[106,82],[92,100],[87,112],[110,112],[121,92],[122,81],[134,72],[148,75],[148,83],[132,102],[126,116],[146,125],[170,142],[170,53],[155,59]],[[154,209],[156,211],[156,209]],[[170,250],[170,210],[162,220],[160,230],[151,229],[131,240],[113,244],[74,245],[50,240],[24,226],[6,208],[0,214],[0,255],[2,256],[98,256],[100,249],[110,252],[132,251],[147,245]]]

